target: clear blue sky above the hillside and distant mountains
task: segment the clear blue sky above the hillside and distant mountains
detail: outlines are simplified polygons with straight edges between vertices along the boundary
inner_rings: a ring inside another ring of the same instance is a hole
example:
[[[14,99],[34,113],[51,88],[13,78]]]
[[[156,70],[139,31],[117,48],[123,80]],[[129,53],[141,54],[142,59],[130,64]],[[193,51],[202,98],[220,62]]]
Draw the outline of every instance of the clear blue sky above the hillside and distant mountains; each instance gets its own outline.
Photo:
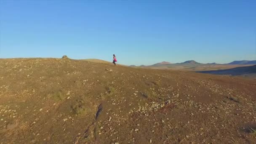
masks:
[[[0,0],[0,58],[256,59],[256,0]]]

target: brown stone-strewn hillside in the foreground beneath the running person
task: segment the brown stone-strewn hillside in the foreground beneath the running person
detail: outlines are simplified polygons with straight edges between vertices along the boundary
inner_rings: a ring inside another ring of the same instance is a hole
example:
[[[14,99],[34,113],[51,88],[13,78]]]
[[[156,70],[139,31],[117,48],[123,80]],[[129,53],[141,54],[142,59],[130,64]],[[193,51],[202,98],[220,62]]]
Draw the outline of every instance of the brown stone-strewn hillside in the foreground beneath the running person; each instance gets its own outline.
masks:
[[[256,143],[256,81],[0,59],[1,144]]]

